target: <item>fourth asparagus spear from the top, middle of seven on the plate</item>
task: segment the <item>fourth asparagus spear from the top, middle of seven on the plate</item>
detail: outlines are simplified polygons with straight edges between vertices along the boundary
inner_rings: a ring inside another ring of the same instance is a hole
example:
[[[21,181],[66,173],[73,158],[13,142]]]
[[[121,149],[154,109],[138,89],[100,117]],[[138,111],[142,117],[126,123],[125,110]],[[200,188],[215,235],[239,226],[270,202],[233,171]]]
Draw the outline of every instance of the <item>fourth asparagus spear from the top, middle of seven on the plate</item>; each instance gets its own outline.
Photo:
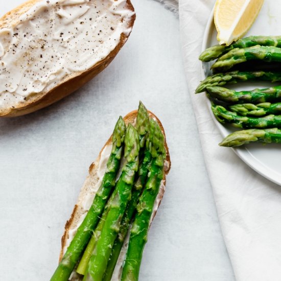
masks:
[[[227,103],[264,103],[281,100],[281,86],[252,91],[235,91],[223,87],[207,87],[209,95]]]

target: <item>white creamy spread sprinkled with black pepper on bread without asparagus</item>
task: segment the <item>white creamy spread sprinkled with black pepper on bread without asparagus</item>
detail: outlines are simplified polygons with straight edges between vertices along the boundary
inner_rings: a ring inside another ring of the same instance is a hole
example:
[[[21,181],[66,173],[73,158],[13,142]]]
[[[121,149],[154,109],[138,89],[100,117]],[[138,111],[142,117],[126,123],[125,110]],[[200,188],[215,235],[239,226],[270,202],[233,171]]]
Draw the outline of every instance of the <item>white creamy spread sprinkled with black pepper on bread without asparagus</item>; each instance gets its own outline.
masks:
[[[44,0],[0,29],[0,109],[104,59],[131,32],[126,0]]]

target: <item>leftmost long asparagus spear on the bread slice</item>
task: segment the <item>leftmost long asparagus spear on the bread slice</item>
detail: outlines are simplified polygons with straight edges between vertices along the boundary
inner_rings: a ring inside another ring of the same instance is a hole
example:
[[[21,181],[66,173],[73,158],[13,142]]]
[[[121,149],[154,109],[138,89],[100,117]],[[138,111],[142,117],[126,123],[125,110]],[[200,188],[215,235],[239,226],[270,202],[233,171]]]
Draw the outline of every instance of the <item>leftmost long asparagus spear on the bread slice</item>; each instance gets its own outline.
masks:
[[[93,229],[95,229],[99,222],[105,203],[115,185],[115,177],[119,171],[121,162],[125,132],[126,125],[123,118],[120,117],[113,131],[112,150],[107,161],[107,170],[103,177],[102,184],[93,199],[85,219],[79,226],[74,239],[51,277],[51,281],[68,280],[91,237]]]

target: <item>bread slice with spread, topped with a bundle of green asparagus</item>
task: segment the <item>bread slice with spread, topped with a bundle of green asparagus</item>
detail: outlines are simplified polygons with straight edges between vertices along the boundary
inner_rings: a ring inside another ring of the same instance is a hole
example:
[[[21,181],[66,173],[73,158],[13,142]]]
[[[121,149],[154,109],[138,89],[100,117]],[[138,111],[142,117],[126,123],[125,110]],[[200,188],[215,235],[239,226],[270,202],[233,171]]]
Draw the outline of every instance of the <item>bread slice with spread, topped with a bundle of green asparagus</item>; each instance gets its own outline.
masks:
[[[170,167],[163,127],[140,103],[90,166],[51,281],[137,280]]]

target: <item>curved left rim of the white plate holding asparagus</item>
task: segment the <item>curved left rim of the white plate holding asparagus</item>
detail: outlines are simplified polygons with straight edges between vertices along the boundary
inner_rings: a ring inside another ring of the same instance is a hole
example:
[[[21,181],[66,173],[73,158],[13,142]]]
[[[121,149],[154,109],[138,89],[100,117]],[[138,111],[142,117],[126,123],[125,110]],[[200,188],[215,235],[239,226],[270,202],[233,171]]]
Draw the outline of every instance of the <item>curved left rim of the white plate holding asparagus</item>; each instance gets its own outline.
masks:
[[[214,9],[215,6],[212,9],[212,13],[210,14],[208,21],[207,21],[207,25],[204,31],[204,35],[203,35],[203,41],[202,41],[202,48],[201,48],[201,52],[203,52],[204,50],[206,50],[206,48],[209,47],[208,41],[209,41],[209,37],[212,34],[212,28],[214,27]],[[201,78],[205,79],[207,77],[206,72],[208,72],[209,70],[206,71],[206,69],[209,69],[209,63],[203,62],[201,61]],[[226,135],[228,135],[229,133],[226,131],[225,127],[219,123],[212,110],[211,110],[211,103],[209,101],[209,99],[207,97],[205,97],[207,99],[207,104],[208,104],[208,108],[209,108],[209,113],[212,116],[213,121],[216,124],[216,127],[219,129],[221,135],[223,137],[225,137]],[[281,176],[280,174],[278,174],[276,171],[270,169],[268,166],[266,166],[263,162],[261,162],[259,159],[257,159],[255,156],[252,155],[252,153],[247,149],[247,147],[240,147],[240,148],[231,148],[232,151],[234,151],[236,153],[236,155],[239,156],[239,158],[241,160],[243,160],[246,165],[248,165],[251,169],[253,169],[255,172],[259,173],[260,175],[262,175],[263,177],[267,178],[268,180],[281,185]]]

